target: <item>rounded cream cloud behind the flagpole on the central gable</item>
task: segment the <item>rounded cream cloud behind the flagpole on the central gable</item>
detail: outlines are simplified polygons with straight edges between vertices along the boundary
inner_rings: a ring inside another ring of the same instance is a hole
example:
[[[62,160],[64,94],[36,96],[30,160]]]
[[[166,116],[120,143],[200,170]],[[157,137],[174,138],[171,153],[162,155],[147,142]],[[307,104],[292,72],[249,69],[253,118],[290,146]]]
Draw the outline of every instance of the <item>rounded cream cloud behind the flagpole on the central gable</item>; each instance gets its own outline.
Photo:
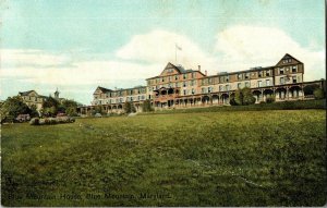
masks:
[[[203,51],[190,38],[162,29],[135,35],[131,41],[117,51],[117,57],[130,61],[145,61],[161,64],[175,63],[175,44],[182,48],[177,50],[177,62],[185,68],[211,69],[217,63],[215,58]]]

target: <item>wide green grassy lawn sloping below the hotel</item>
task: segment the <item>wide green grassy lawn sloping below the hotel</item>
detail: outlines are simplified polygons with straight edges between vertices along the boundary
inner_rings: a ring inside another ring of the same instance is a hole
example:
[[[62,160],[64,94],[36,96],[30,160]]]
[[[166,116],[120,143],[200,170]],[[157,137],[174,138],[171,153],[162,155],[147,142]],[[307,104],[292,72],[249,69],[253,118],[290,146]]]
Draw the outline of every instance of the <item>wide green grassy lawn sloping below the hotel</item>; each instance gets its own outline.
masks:
[[[325,110],[2,126],[4,206],[323,206]]]

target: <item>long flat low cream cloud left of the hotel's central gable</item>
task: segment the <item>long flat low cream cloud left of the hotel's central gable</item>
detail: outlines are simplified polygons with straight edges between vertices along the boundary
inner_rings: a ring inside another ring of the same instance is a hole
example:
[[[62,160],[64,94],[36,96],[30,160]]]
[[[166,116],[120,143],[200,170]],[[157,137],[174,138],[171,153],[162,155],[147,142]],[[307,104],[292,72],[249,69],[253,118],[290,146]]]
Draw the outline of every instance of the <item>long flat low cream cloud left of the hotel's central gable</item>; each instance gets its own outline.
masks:
[[[155,64],[143,65],[120,61],[87,61],[76,62],[74,68],[35,69],[32,66],[2,69],[2,78],[20,79],[28,83],[49,84],[58,86],[106,85],[110,86],[117,79],[129,82],[149,77]],[[144,83],[140,83],[145,85]]]

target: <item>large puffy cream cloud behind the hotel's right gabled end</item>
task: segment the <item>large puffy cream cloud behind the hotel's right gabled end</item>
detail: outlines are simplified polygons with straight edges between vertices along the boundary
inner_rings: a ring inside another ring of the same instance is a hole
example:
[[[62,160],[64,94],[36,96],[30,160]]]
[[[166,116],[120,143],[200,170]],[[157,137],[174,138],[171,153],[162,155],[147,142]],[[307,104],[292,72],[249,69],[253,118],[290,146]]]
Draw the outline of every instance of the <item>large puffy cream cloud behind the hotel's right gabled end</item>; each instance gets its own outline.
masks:
[[[304,63],[305,81],[325,77],[325,50],[305,48],[279,28],[237,25],[218,33],[216,40],[219,69],[225,71],[275,65],[290,53]]]

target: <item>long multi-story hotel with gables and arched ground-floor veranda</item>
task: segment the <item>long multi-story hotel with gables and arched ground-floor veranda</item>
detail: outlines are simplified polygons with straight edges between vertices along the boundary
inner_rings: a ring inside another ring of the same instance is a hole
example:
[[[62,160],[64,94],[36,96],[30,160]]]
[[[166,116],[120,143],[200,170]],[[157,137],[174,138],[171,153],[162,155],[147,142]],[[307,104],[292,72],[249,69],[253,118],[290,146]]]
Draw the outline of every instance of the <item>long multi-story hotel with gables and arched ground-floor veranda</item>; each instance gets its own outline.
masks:
[[[306,99],[303,88],[316,84],[324,88],[325,81],[303,82],[304,64],[290,54],[272,66],[253,68],[238,72],[220,72],[217,75],[197,70],[185,70],[168,63],[160,75],[147,78],[146,86],[125,89],[97,87],[92,106],[81,107],[87,114],[101,107],[106,112],[119,112],[125,101],[133,102],[140,111],[148,99],[155,109],[191,108],[213,105],[229,105],[229,99],[239,88],[251,88],[256,102],[275,97],[276,101]]]

